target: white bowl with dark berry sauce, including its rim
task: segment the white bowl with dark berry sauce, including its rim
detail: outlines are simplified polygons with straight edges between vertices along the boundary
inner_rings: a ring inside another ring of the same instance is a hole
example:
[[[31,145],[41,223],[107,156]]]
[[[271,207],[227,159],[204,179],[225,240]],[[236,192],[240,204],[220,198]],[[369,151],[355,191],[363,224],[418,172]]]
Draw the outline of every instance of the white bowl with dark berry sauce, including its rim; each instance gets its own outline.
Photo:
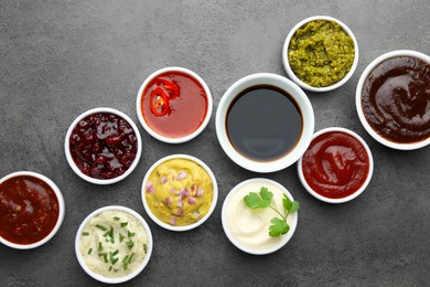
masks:
[[[117,109],[87,110],[72,123],[66,134],[68,164],[92,183],[110,184],[125,179],[138,164],[141,152],[138,127]]]

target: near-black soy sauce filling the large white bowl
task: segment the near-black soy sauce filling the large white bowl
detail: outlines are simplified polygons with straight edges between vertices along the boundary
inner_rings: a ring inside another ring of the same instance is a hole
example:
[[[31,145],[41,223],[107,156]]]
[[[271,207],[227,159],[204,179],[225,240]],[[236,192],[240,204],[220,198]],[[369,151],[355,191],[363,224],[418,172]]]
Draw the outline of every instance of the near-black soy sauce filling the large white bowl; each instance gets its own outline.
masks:
[[[273,161],[290,152],[302,134],[298,104],[283,89],[251,86],[232,102],[226,128],[233,147],[255,161]]]

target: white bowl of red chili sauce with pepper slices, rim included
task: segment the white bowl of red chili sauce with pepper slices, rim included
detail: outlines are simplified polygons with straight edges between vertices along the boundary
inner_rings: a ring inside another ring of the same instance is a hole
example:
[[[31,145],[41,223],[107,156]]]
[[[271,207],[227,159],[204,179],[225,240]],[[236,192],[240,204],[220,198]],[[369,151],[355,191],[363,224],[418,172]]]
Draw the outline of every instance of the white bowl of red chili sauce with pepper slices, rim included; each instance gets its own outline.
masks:
[[[181,144],[200,135],[212,115],[206,83],[183,67],[165,67],[141,85],[136,108],[140,124],[154,138]]]

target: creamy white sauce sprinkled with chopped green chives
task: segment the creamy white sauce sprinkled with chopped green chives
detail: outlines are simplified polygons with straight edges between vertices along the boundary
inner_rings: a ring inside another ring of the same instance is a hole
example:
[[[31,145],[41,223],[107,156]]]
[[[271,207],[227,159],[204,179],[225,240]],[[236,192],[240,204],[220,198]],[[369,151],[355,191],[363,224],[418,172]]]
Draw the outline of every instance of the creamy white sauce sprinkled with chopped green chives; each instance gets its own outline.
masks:
[[[104,211],[88,221],[80,234],[79,247],[88,268],[110,278],[135,272],[149,248],[148,235],[140,221],[127,212],[114,210]]]

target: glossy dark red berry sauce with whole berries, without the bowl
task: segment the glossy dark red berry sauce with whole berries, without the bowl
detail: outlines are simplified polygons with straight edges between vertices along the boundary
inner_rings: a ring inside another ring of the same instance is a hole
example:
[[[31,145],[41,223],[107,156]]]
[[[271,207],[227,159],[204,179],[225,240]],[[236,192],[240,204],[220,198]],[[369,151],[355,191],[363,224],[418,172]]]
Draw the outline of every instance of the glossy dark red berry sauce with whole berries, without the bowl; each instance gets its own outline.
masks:
[[[97,113],[79,120],[69,137],[72,158],[79,170],[95,179],[123,174],[137,153],[137,138],[120,116]]]

